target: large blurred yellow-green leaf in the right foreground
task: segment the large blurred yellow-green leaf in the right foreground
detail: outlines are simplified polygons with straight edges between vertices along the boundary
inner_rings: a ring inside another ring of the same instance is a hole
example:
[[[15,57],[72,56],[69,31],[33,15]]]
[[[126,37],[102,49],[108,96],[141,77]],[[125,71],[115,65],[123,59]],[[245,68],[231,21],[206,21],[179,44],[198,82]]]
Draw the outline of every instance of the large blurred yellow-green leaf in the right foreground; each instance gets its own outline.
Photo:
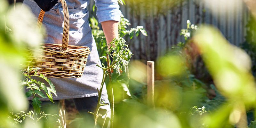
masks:
[[[194,41],[216,87],[228,98],[226,105],[206,118],[206,123],[214,128],[223,126],[223,122],[237,125],[238,128],[246,127],[246,109],[254,108],[256,101],[250,57],[243,50],[229,44],[219,30],[210,26],[201,26]],[[219,119],[222,123],[213,122],[215,117],[222,117]]]

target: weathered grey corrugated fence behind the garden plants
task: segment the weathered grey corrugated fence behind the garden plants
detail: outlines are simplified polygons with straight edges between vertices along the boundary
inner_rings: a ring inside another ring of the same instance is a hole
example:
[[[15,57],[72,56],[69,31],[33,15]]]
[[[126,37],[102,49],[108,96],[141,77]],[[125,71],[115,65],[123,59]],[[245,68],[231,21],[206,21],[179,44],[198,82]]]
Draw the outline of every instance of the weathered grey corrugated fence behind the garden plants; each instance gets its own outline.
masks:
[[[148,37],[140,35],[127,39],[134,59],[155,60],[170,50],[172,45],[184,41],[180,30],[187,27],[187,20],[192,24],[212,24],[219,28],[223,36],[234,45],[244,42],[245,25],[248,11],[241,0],[230,4],[213,4],[207,6],[203,0],[125,0],[120,6],[131,26],[144,26]],[[93,0],[89,8],[94,4]],[[228,6],[236,8],[225,11]],[[90,8],[91,9],[91,8]],[[215,15],[213,14],[215,11]]]

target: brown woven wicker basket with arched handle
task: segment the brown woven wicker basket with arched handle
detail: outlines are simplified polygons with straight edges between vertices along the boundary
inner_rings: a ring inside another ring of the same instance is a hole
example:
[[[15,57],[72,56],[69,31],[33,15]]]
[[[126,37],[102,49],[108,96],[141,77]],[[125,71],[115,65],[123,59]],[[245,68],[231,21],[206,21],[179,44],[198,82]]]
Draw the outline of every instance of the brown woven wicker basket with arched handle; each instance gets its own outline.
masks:
[[[31,55],[28,65],[24,66],[24,74],[28,74],[27,68],[41,68],[33,70],[28,75],[43,74],[47,77],[72,78],[81,77],[84,72],[85,63],[91,53],[89,47],[68,45],[69,40],[69,14],[65,0],[60,0],[64,13],[64,28],[62,44],[42,44],[39,49],[43,51],[40,55]],[[40,28],[44,18],[44,11],[41,10],[37,26]]]

